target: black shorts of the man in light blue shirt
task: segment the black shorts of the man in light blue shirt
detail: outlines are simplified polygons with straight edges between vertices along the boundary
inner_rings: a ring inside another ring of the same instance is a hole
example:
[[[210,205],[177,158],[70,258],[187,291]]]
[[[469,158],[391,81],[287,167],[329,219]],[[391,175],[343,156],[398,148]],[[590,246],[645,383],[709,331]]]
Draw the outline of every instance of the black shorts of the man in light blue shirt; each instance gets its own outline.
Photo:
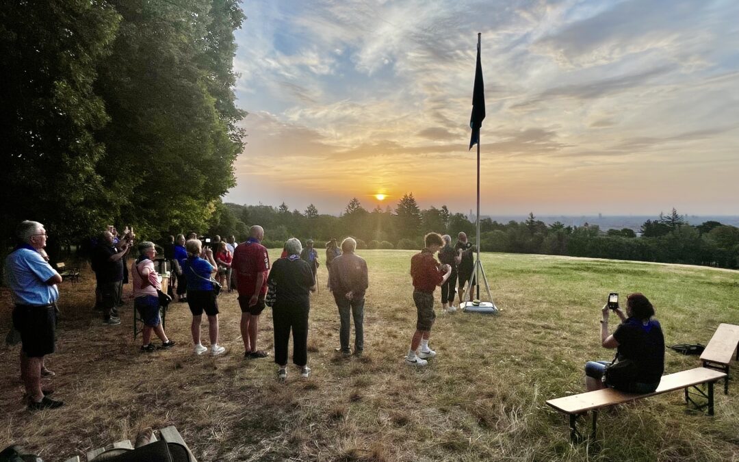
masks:
[[[16,305],[13,309],[13,327],[21,333],[23,352],[29,358],[41,358],[54,353],[55,326],[53,305]]]

